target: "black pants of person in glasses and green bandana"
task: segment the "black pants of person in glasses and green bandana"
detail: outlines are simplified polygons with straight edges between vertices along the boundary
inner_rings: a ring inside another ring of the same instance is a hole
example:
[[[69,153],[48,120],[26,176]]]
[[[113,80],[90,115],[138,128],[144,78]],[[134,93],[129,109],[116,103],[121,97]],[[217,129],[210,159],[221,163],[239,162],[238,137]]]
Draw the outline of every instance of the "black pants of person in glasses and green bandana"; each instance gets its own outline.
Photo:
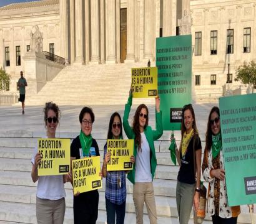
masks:
[[[97,190],[74,196],[74,224],[96,224],[98,205],[99,192]]]

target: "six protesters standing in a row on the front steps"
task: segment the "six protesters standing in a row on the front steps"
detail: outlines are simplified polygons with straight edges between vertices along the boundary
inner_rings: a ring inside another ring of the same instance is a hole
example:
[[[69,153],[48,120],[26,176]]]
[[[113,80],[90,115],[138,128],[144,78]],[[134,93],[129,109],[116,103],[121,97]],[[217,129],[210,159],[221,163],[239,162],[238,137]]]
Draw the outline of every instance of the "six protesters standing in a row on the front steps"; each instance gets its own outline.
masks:
[[[134,151],[130,156],[133,169],[127,174],[127,179],[133,184],[133,200],[136,223],[143,223],[144,203],[147,207],[150,224],[157,223],[153,179],[157,166],[154,141],[163,134],[162,112],[160,98],[155,98],[155,129],[149,126],[149,110],[146,105],[137,107],[132,125],[129,124],[129,113],[132,106],[132,93],[124,110],[123,121],[119,113],[112,114],[107,131],[107,139],[122,139],[122,124],[127,138],[134,139]],[[52,102],[44,108],[44,123],[46,138],[56,138],[56,128],[61,118],[59,107]],[[81,131],[71,144],[71,161],[84,157],[99,156],[99,147],[92,137],[94,113],[91,108],[84,107],[79,114]],[[172,139],[171,139],[172,140]],[[209,182],[209,215],[213,223],[237,223],[240,207],[229,207],[227,188],[225,185],[224,159],[222,153],[222,137],[220,132],[220,111],[214,106],[210,111],[205,134],[205,152],[201,169],[202,146],[195,121],[192,105],[182,109],[181,142],[176,147],[176,157],[180,169],[177,177],[176,202],[179,222],[189,222],[192,207],[199,208],[200,174]],[[41,162],[41,154],[37,147],[31,159],[33,182],[37,183],[36,217],[37,223],[62,224],[64,222],[65,189],[64,183],[72,183],[72,170],[66,175],[38,176],[37,167]],[[99,175],[106,178],[106,217],[107,223],[124,223],[126,214],[126,173],[127,171],[107,171],[107,163],[111,152],[104,146],[104,161]],[[89,192],[74,195],[74,223],[96,223],[98,217],[99,192]]]

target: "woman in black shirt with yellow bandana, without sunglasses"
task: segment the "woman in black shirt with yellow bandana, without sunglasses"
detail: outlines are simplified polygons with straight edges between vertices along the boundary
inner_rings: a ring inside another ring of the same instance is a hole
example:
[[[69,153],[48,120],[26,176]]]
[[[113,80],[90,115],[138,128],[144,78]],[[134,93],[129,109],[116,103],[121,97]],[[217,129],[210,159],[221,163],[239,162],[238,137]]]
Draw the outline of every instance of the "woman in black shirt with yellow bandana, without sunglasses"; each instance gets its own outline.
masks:
[[[195,112],[191,104],[185,105],[182,108],[181,142],[176,153],[180,166],[176,187],[180,224],[189,222],[193,205],[195,211],[199,207],[201,153],[202,146],[195,123]]]

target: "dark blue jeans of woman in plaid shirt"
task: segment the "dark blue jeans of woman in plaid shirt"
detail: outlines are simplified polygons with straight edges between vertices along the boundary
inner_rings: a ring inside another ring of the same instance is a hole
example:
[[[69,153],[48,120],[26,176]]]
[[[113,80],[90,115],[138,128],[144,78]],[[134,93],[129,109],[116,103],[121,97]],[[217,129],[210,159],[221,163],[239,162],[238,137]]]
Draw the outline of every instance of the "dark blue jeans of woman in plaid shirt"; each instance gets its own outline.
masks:
[[[106,199],[107,210],[107,224],[124,224],[124,216],[126,215],[126,202],[121,205],[112,203],[109,199]]]

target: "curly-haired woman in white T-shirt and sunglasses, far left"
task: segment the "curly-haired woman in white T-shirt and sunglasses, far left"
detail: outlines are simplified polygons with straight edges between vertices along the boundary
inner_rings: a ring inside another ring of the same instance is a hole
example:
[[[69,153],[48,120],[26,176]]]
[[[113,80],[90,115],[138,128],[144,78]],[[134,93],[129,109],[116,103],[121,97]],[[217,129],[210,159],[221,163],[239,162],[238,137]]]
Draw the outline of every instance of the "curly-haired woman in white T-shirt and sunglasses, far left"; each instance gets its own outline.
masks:
[[[55,138],[57,124],[61,112],[55,103],[46,103],[44,108],[44,123],[47,138]],[[65,215],[65,189],[63,175],[38,176],[38,165],[41,162],[41,154],[36,147],[31,159],[33,182],[38,180],[36,193],[36,218],[38,224],[57,223],[62,224]],[[66,181],[65,181],[66,182]]]

